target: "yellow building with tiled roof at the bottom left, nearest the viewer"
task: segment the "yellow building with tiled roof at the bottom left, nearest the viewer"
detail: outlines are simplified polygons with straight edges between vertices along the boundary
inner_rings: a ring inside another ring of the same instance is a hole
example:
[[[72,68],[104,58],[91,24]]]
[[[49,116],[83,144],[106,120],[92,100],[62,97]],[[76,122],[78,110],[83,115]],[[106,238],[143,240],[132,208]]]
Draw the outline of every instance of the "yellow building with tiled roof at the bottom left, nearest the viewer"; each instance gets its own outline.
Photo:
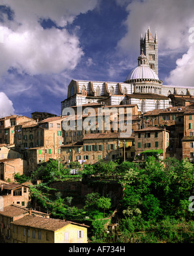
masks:
[[[13,243],[87,243],[84,224],[27,215],[11,222]]]

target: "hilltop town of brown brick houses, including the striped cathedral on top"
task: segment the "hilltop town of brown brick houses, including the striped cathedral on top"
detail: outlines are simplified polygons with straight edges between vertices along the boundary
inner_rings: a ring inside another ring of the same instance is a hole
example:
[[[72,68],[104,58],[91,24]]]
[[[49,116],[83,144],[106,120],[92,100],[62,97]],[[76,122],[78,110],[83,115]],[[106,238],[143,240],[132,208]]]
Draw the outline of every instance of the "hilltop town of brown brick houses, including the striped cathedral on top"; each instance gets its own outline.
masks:
[[[187,159],[193,166],[194,89],[162,84],[158,78],[157,45],[157,34],[154,38],[148,29],[145,38],[140,38],[138,67],[125,82],[72,80],[67,99],[61,102],[61,115],[36,111],[31,117],[11,115],[0,119],[2,242],[88,242],[87,232],[91,230],[87,218],[83,224],[79,218],[70,219],[71,214],[68,220],[62,213],[50,216],[36,201],[38,192],[33,187],[37,185],[48,185],[49,181],[49,189],[64,193],[59,196],[61,200],[66,198],[70,205],[74,198],[74,207],[88,194],[97,193],[93,194],[96,200],[109,194],[113,204],[109,216],[114,218],[114,209],[117,211],[123,195],[119,181],[122,174],[102,177],[100,170],[94,174],[90,168],[102,168],[102,163],[110,163],[112,170],[118,168],[118,163],[126,163],[126,168],[129,163],[127,171],[135,166],[144,168],[149,156],[159,162]],[[47,180],[46,175],[39,174],[52,162],[58,180]],[[66,180],[60,178],[62,172],[67,172],[63,175]],[[22,182],[23,177],[28,179]],[[105,183],[109,188],[100,190],[94,183],[90,187],[89,179],[97,183],[111,181]],[[42,191],[43,198],[47,187],[43,190],[42,185]],[[72,198],[70,193],[74,194]],[[72,215],[75,209],[71,209]],[[110,207],[102,209],[105,218]],[[113,234],[116,222],[108,222],[106,228]]]

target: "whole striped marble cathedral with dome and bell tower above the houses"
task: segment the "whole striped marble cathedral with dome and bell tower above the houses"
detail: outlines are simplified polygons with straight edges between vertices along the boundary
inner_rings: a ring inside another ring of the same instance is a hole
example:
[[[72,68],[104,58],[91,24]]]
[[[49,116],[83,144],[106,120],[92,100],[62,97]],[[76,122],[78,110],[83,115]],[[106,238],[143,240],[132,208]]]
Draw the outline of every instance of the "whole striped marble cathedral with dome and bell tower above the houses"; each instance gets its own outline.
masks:
[[[172,96],[192,97],[194,87],[163,85],[158,78],[158,36],[146,31],[140,37],[140,56],[135,67],[124,82],[98,82],[72,80],[68,87],[67,99],[61,102],[64,108],[98,103],[107,106],[136,104],[138,111],[165,109],[172,106]]]

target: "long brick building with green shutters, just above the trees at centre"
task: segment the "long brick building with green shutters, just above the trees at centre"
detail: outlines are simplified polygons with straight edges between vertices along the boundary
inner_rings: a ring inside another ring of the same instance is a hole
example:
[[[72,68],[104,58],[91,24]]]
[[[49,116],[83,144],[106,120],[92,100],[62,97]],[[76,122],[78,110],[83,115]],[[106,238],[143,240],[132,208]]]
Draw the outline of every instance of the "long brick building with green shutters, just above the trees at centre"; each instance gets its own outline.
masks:
[[[133,136],[121,137],[119,132],[87,134],[81,141],[61,146],[61,162],[78,161],[81,165],[114,161],[118,157],[133,159],[135,156]],[[125,146],[125,150],[124,150]]]

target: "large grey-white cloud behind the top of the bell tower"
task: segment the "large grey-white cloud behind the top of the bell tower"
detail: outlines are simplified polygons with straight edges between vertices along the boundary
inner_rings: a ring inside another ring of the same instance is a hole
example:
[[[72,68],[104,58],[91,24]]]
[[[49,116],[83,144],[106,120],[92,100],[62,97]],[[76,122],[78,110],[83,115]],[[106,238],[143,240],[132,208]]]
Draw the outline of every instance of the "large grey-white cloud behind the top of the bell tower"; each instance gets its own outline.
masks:
[[[119,3],[120,0],[117,0]],[[140,34],[150,27],[153,36],[158,32],[160,51],[180,49],[189,45],[188,28],[193,27],[193,0],[133,1],[127,5],[129,16],[124,22],[127,34],[118,43],[124,51],[136,49]]]

